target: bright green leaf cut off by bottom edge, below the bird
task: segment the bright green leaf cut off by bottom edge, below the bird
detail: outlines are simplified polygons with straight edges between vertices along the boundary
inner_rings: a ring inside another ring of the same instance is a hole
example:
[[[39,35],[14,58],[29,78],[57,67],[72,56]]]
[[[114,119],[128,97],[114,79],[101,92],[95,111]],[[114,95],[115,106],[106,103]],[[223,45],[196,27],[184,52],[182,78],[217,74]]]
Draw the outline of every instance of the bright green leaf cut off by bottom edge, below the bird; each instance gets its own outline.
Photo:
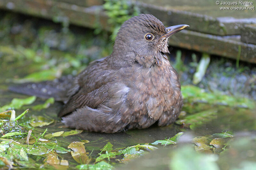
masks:
[[[81,170],[111,170],[113,166],[107,162],[101,161],[94,165],[78,165],[76,168]]]

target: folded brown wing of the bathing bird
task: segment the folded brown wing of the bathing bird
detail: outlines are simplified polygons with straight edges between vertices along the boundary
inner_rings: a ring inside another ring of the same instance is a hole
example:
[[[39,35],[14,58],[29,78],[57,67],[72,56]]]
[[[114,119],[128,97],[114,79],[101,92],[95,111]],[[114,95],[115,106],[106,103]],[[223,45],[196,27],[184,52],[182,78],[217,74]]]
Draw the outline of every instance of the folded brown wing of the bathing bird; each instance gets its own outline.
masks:
[[[64,116],[78,108],[88,106],[96,108],[108,97],[108,87],[111,82],[110,74],[105,60],[92,62],[76,77],[76,85],[70,89],[69,100],[60,110],[58,116]]]

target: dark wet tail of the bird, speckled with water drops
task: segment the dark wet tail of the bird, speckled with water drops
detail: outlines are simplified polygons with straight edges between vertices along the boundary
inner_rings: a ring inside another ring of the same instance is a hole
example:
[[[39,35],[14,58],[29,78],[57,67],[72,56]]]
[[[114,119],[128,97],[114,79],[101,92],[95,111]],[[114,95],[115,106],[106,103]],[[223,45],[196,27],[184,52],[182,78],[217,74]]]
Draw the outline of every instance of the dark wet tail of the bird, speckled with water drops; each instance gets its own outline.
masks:
[[[56,101],[65,102],[68,99],[68,89],[73,85],[72,76],[64,76],[53,81],[39,83],[23,83],[9,87],[10,91],[40,98],[54,97]]]

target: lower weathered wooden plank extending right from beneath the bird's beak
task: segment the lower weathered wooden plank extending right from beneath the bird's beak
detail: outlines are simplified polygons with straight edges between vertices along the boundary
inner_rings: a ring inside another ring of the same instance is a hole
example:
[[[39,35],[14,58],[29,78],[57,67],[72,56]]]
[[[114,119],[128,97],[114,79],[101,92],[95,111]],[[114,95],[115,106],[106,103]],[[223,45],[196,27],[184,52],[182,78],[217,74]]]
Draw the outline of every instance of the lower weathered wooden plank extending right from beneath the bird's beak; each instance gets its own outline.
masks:
[[[256,45],[240,41],[240,36],[222,37],[182,30],[169,39],[169,44],[199,52],[256,63]]]

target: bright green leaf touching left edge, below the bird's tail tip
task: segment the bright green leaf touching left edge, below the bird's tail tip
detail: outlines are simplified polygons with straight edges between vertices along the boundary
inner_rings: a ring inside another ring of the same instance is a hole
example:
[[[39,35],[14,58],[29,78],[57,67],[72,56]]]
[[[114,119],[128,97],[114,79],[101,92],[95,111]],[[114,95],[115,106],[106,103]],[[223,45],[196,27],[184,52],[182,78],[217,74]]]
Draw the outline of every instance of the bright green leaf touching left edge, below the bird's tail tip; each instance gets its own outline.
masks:
[[[12,99],[12,102],[10,104],[0,107],[0,111],[5,111],[8,109],[20,109],[24,105],[29,105],[34,103],[35,100],[36,100],[36,96],[31,96],[25,99],[14,98]]]

